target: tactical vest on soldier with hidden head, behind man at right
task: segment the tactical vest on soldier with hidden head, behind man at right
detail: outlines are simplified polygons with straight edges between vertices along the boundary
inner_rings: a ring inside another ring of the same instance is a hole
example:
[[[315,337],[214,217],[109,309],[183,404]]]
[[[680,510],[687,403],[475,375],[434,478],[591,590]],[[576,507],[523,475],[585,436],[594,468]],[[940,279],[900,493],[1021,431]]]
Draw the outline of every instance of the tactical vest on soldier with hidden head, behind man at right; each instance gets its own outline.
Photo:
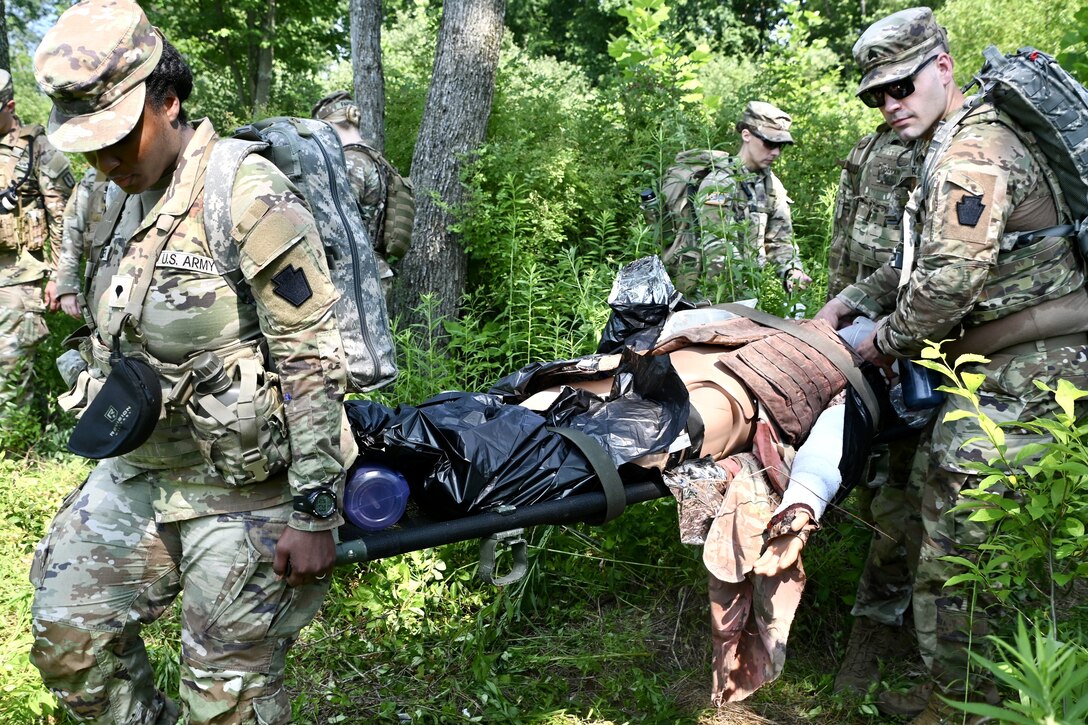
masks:
[[[903,210],[917,184],[913,148],[890,130],[858,144],[845,161],[854,180],[836,216],[846,230],[846,257],[871,271],[890,261],[903,239]]]

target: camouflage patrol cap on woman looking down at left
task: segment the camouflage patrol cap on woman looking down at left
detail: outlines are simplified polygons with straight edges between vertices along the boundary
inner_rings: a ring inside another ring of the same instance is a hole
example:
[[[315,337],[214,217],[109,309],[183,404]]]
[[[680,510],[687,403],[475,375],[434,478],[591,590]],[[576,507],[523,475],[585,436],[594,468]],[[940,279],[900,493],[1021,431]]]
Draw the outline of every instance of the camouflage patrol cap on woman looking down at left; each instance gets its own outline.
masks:
[[[52,145],[95,151],[124,138],[144,113],[144,82],[161,57],[162,38],[135,2],[69,8],[34,53],[38,86],[53,101]]]

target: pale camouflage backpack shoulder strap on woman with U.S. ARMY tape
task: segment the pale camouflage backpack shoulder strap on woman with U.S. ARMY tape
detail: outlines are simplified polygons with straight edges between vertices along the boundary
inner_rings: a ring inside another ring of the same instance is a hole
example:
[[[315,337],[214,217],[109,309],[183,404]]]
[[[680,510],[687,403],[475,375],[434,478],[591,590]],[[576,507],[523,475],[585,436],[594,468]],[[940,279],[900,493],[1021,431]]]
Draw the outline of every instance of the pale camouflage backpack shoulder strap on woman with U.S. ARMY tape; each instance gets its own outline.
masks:
[[[249,286],[242,278],[238,245],[231,237],[231,230],[234,229],[234,221],[231,219],[231,195],[242,162],[250,153],[260,152],[267,147],[268,144],[262,142],[220,138],[211,149],[208,171],[205,174],[203,217],[208,246],[223,279],[247,304],[252,302],[252,296],[249,294]]]

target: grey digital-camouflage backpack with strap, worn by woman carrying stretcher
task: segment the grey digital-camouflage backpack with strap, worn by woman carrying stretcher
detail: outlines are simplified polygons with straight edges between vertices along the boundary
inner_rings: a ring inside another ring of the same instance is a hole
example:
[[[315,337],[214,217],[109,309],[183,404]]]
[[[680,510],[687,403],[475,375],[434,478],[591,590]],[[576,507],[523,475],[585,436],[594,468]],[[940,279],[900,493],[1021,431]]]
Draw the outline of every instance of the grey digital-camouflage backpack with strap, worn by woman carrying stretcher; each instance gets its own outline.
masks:
[[[242,161],[260,153],[290,180],[306,199],[325,247],[353,392],[375,390],[397,376],[396,351],[385,299],[339,138],[321,121],[274,118],[243,126],[212,148],[205,180],[205,231],[223,278],[238,296],[252,302],[242,275],[238,247],[231,237],[231,188]]]

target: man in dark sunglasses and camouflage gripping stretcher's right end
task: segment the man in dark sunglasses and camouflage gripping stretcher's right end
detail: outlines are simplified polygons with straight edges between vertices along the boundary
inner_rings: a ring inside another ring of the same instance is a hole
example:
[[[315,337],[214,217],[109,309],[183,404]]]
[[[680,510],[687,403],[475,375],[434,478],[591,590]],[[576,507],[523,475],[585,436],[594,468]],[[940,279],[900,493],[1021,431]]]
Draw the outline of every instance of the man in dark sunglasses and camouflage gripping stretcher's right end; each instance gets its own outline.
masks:
[[[929,150],[916,205],[908,205],[917,211],[904,228],[902,274],[882,268],[846,287],[819,317],[838,322],[854,314],[886,315],[858,349],[880,366],[918,355],[926,340],[956,340],[956,353],[990,359],[962,370],[986,377],[978,392],[981,411],[992,420],[1053,414],[1056,404],[1037,382],[1088,385],[1084,273],[1068,237],[1043,233],[1012,244],[1007,236],[1070,220],[1063,198],[1047,181],[1044,158],[1012,119],[981,99],[964,98],[944,30],[928,8],[874,23],[855,44],[854,58],[862,71],[861,100],[878,108],[900,138],[920,139]],[[1019,312],[1029,314],[1034,324],[1019,323]],[[924,432],[912,469],[924,526],[914,619],[931,683],[916,688],[918,697],[881,698],[880,705],[899,713],[924,706],[914,721],[919,725],[951,722],[940,696],[994,696],[977,675],[968,677],[967,646],[984,647],[988,615],[1000,610],[986,597],[973,605],[962,586],[944,587],[963,569],[942,558],[973,557],[974,546],[990,534],[986,523],[969,520],[969,511],[951,511],[969,501],[964,492],[978,486],[975,464],[998,454],[968,406],[948,396],[937,414],[942,422]],[[968,415],[957,419],[962,413]],[[1004,438],[1005,459],[1038,440],[1014,428],[1005,429]]]

